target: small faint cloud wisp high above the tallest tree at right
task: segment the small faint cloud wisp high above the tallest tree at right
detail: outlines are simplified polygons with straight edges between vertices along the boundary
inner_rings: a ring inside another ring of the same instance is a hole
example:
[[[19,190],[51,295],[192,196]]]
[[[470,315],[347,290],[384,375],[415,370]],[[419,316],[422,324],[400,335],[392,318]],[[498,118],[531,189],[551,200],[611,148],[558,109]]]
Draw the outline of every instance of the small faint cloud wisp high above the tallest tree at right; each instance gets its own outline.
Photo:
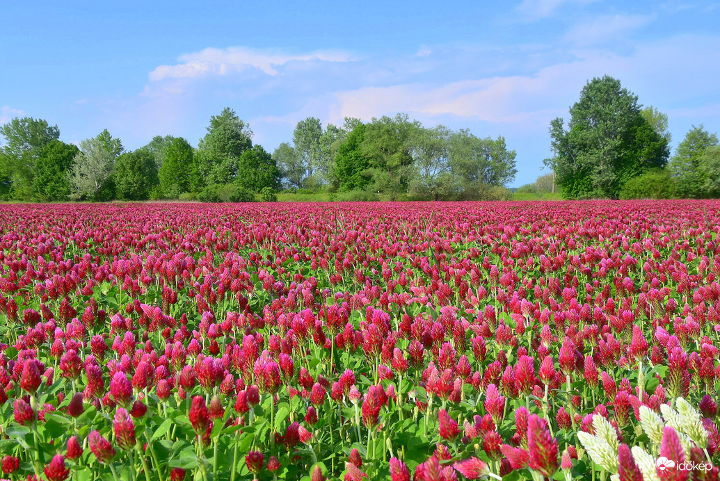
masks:
[[[565,35],[573,45],[599,45],[616,41],[655,19],[654,15],[600,15],[592,22],[577,24]]]

